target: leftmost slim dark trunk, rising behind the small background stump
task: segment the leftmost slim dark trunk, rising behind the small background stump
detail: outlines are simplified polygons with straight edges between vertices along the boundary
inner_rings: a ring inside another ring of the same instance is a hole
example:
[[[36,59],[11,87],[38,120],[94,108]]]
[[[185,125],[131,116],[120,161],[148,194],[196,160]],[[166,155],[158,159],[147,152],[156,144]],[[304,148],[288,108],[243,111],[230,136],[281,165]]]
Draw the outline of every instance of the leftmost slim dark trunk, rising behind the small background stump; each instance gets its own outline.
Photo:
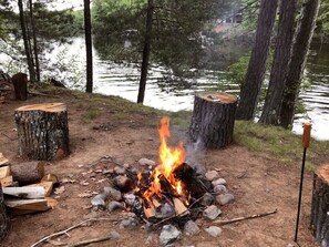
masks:
[[[34,81],[35,80],[35,72],[34,72],[34,68],[33,68],[31,50],[29,49],[29,40],[28,40],[25,18],[24,18],[24,9],[23,9],[23,1],[22,0],[18,0],[18,7],[19,7],[20,24],[21,24],[21,29],[22,29],[22,37],[23,37],[24,50],[25,50],[25,55],[27,55],[27,61],[28,61],[30,80]]]

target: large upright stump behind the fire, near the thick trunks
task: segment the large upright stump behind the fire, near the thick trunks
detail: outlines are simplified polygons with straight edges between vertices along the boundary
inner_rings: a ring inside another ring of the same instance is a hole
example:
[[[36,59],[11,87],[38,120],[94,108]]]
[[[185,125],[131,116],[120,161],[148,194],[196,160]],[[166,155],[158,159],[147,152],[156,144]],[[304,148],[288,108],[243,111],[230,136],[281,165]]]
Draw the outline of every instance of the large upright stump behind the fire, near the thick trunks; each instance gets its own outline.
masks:
[[[195,95],[189,135],[205,147],[225,147],[233,141],[237,97],[222,92],[201,92]]]

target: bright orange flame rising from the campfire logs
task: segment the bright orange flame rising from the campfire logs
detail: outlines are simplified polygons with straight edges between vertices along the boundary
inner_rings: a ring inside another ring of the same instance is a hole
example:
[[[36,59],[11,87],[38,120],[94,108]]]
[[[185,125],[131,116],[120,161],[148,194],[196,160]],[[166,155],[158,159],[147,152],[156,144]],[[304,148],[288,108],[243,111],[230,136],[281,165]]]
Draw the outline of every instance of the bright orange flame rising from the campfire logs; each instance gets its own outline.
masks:
[[[174,177],[174,169],[185,161],[185,150],[183,143],[179,142],[177,147],[169,147],[167,145],[167,137],[171,136],[169,123],[167,117],[161,120],[161,126],[158,128],[160,134],[160,166],[152,173],[153,182],[150,188],[143,194],[144,198],[148,202],[151,197],[156,194],[162,197],[161,183],[158,176],[162,174],[175,189],[178,195],[184,194],[184,187],[181,181]]]

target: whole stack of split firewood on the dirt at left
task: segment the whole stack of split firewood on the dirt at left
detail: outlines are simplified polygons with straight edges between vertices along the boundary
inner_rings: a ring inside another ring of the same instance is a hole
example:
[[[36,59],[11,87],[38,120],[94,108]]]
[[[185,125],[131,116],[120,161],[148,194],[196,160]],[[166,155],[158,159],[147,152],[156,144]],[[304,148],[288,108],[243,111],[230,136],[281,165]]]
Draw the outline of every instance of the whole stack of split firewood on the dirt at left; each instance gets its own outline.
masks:
[[[4,205],[14,215],[44,212],[58,204],[50,195],[59,181],[53,174],[44,175],[43,162],[10,165],[0,153],[0,182]]]

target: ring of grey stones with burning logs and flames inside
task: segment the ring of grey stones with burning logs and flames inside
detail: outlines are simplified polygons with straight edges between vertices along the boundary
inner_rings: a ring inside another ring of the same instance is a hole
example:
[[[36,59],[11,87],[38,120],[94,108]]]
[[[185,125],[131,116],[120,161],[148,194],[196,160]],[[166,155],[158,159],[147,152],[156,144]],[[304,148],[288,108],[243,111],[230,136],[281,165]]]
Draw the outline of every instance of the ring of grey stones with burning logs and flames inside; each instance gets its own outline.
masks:
[[[191,220],[198,217],[205,217],[207,220],[217,218],[222,212],[215,204],[225,205],[234,200],[234,196],[226,188],[226,181],[219,177],[217,171],[204,174],[187,164],[183,142],[176,147],[168,146],[168,119],[161,120],[158,134],[158,164],[143,158],[146,165],[141,171],[116,164],[116,167],[106,174],[113,187],[105,187],[103,194],[92,199],[92,205],[95,208],[104,208],[105,200],[111,198],[113,200],[107,206],[109,210],[120,208],[132,212],[136,219],[152,226],[148,228],[168,223],[177,224],[182,228],[188,225],[191,228],[193,224],[197,227]],[[128,223],[124,223],[123,227],[125,225]],[[169,228],[166,225],[163,230]]]

